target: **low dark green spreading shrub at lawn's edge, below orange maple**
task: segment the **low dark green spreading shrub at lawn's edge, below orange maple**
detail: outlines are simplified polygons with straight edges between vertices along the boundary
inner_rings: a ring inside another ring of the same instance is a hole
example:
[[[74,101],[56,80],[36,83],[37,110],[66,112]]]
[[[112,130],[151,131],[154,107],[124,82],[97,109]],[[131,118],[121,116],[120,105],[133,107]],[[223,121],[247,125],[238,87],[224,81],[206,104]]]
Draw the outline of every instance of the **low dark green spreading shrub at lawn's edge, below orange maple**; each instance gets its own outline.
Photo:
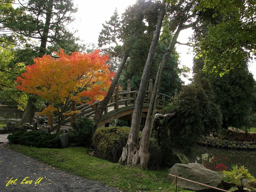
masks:
[[[19,131],[8,135],[10,143],[30,147],[60,148],[59,134],[45,134],[40,131]]]

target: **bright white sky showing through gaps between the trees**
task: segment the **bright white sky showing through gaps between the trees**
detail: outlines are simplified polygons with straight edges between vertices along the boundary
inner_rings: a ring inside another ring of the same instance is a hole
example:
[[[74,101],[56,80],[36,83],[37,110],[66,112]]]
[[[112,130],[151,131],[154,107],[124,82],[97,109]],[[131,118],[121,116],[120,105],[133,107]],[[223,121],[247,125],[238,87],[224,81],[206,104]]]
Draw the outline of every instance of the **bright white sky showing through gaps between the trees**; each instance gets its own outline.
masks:
[[[98,37],[102,30],[102,24],[109,21],[115,9],[119,13],[119,17],[125,11],[126,7],[133,5],[136,0],[74,0],[78,11],[74,14],[75,22],[71,25],[74,30],[78,30],[77,35],[83,43],[98,44]],[[178,41],[187,43],[189,36],[192,35],[192,29],[183,30],[180,32]],[[176,44],[176,50],[180,54],[180,64],[191,69],[193,62],[192,47]],[[254,74],[256,79],[256,62],[249,64],[249,71]],[[188,73],[188,78],[192,78],[192,73]],[[181,77],[185,84],[190,83],[188,78]]]

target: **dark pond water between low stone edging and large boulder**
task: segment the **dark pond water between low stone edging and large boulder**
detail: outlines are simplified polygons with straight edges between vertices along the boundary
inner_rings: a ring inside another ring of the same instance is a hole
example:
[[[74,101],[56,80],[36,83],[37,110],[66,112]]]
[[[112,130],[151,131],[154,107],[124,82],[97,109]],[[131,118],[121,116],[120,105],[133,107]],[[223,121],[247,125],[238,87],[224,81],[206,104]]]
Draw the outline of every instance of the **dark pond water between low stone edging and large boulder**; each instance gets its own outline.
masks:
[[[217,158],[216,158],[217,157]],[[211,166],[213,159],[216,160],[216,164],[224,164],[228,167],[228,171],[232,165],[238,164],[246,167],[249,173],[256,176],[256,151],[242,151],[231,149],[217,149],[213,147],[197,146],[194,149],[194,155],[187,159],[190,163],[204,164],[205,166]]]

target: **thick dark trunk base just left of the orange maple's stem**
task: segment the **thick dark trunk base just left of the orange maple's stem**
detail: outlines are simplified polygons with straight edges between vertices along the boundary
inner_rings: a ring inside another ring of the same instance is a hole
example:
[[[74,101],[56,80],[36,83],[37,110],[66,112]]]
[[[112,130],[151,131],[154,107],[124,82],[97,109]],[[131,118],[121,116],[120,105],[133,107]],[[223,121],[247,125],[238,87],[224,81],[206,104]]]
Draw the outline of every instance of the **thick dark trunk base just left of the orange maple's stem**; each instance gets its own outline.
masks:
[[[22,115],[20,124],[24,124],[24,123],[29,123],[32,125],[33,123],[33,118],[35,115],[35,111],[36,111],[36,107],[33,103],[36,102],[36,98],[34,98],[33,96],[29,96],[28,97],[28,102],[27,102],[27,106],[26,109],[24,110],[24,114]]]

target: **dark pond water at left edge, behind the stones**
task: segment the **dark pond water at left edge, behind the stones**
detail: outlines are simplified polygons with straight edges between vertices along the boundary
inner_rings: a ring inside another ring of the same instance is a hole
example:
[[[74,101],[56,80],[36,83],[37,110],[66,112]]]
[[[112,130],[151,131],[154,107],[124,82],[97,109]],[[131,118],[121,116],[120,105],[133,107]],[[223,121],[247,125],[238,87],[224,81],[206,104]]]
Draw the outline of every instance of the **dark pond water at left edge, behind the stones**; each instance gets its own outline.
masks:
[[[23,111],[17,109],[17,107],[0,107],[0,125],[6,125],[7,121],[19,123]]]

